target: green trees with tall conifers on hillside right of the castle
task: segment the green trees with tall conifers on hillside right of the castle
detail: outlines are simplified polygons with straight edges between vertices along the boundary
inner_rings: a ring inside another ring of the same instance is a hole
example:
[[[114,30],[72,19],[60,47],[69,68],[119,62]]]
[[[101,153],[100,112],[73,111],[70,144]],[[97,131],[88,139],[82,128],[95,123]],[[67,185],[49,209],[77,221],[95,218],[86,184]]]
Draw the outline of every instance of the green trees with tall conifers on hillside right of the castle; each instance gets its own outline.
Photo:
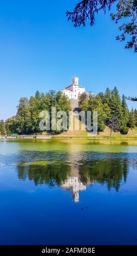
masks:
[[[110,127],[110,131],[127,134],[129,128],[137,126],[137,110],[129,111],[126,97],[119,95],[118,89],[106,89],[105,93],[98,93],[96,96],[83,93],[80,95],[79,107],[81,111],[97,111],[98,131],[103,131],[105,126]],[[93,123],[93,120],[92,120]]]

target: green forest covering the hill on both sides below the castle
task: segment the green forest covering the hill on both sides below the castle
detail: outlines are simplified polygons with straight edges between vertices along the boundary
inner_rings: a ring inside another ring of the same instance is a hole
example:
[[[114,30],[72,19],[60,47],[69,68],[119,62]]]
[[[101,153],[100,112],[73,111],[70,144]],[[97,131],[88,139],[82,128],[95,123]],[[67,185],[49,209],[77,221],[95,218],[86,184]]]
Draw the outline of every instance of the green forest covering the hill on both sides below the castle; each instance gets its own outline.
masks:
[[[40,113],[41,111],[48,111],[51,118],[51,107],[56,107],[56,111],[65,111],[69,116],[71,111],[71,102],[67,96],[61,92],[50,90],[48,93],[36,92],[35,96],[21,97],[17,106],[16,115],[0,121],[1,135],[11,135],[17,133],[18,135],[29,135],[40,133]],[[92,94],[83,93],[79,97],[80,111],[97,111],[98,117],[98,132],[110,127],[110,131],[127,134],[129,128],[133,129],[137,126],[137,110],[128,109],[126,97],[120,97],[118,89],[106,89],[105,93],[98,93],[96,96]],[[92,118],[93,119],[93,118]],[[93,120],[92,120],[93,122]],[[53,134],[63,132],[51,131]]]

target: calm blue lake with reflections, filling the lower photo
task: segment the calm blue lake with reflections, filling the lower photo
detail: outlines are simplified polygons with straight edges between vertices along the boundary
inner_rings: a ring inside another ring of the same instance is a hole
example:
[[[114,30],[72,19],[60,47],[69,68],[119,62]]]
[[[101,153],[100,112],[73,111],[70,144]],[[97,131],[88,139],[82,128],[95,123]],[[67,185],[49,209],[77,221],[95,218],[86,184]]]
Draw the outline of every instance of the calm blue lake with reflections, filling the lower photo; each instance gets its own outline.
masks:
[[[137,142],[0,140],[1,245],[137,245]]]

